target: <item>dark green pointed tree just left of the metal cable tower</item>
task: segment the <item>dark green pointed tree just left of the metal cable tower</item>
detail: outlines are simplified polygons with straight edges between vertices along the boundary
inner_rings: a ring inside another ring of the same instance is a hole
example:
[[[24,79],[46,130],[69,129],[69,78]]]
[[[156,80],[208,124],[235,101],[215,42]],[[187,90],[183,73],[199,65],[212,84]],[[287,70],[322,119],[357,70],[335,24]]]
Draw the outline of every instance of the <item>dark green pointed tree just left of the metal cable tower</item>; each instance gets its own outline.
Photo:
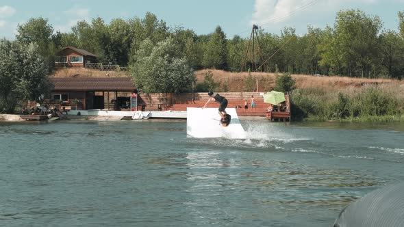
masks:
[[[220,26],[216,27],[205,46],[203,66],[206,68],[227,69],[227,40]]]

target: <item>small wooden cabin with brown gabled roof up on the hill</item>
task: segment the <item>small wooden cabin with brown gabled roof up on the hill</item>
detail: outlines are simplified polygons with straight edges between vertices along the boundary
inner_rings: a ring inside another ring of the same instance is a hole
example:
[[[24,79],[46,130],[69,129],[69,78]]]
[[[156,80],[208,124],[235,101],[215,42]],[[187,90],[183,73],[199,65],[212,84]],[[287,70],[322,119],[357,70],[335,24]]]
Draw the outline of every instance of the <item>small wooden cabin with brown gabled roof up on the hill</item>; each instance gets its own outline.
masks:
[[[66,46],[55,57],[56,67],[86,67],[86,63],[97,62],[97,56],[83,49]]]

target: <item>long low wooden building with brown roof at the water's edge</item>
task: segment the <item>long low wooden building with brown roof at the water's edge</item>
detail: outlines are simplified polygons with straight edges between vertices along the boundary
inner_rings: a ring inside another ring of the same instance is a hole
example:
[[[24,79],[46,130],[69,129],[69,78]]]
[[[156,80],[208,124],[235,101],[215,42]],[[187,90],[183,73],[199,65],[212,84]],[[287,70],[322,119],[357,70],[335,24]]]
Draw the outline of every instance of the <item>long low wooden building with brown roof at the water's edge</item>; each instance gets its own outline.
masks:
[[[47,100],[59,109],[129,110],[134,85],[129,77],[51,78],[53,89]]]

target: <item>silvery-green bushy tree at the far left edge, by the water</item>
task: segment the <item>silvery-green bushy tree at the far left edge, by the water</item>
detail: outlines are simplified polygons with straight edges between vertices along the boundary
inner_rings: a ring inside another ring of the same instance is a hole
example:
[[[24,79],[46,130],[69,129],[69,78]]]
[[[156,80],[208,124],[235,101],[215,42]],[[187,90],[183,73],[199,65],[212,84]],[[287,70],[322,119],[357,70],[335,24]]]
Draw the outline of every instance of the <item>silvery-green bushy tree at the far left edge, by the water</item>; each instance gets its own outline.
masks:
[[[0,111],[13,111],[18,101],[49,93],[49,65],[38,49],[34,43],[0,40]]]

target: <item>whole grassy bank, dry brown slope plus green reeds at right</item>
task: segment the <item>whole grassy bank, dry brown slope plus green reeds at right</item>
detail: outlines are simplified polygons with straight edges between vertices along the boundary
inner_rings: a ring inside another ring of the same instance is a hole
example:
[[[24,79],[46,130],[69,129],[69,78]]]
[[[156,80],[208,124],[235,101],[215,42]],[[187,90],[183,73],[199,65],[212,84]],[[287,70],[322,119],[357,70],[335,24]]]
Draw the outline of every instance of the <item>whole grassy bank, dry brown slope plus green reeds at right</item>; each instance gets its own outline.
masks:
[[[127,77],[127,72],[107,72],[64,68],[53,77]],[[203,83],[207,74],[218,84],[216,92],[259,92],[275,88],[277,74],[198,70],[194,75]],[[404,122],[404,80],[292,75],[296,90],[291,94],[293,120],[341,122]]]

